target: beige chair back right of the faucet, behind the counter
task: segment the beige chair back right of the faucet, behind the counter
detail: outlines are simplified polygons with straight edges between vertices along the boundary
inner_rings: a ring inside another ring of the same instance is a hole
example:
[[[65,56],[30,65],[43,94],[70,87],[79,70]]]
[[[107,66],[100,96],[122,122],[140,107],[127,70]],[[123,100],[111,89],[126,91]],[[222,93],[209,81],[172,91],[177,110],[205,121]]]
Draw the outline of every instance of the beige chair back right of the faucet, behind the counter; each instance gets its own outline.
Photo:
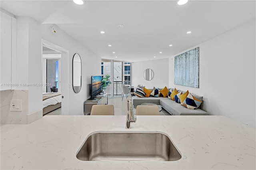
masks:
[[[158,106],[156,105],[138,105],[136,107],[136,115],[160,115]]]

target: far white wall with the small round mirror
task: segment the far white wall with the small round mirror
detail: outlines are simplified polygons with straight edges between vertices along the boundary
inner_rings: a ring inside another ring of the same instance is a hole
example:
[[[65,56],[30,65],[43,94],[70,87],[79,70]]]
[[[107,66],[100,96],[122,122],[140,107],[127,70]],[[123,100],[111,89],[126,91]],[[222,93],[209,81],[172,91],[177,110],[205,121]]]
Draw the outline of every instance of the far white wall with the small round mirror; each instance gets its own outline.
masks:
[[[168,59],[156,59],[150,61],[140,61],[132,63],[132,85],[142,84],[146,88],[168,87]],[[152,69],[154,77],[147,81],[143,77],[145,69]]]

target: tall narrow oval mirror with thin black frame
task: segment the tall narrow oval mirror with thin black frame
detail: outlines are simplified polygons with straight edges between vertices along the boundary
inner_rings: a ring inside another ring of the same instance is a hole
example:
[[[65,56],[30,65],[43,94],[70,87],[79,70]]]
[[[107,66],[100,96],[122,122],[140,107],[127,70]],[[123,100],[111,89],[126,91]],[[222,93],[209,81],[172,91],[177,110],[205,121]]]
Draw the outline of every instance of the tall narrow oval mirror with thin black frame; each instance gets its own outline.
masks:
[[[75,53],[72,61],[73,66],[73,90],[78,93],[82,86],[82,61],[78,53]]]

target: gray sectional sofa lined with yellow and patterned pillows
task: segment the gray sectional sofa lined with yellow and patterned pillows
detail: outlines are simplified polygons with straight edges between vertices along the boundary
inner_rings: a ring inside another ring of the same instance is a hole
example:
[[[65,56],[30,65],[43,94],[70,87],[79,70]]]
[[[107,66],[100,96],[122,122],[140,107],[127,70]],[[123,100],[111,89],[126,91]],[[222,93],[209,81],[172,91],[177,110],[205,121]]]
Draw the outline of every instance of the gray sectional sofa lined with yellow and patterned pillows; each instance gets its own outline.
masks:
[[[193,94],[192,94],[193,95]],[[201,100],[203,97],[193,95],[197,99]],[[142,103],[154,103],[161,105],[170,115],[209,115],[206,111],[203,111],[201,106],[198,109],[187,109],[186,107],[176,103],[175,101],[168,99],[168,97],[137,97],[132,96],[134,107],[141,105]]]

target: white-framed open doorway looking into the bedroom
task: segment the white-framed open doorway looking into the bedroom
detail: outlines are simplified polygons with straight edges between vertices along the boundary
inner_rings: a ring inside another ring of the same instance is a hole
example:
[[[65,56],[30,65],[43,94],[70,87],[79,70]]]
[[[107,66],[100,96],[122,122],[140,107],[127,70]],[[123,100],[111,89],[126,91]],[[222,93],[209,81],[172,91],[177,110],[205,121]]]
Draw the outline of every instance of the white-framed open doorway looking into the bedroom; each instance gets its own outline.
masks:
[[[47,111],[49,115],[52,115],[51,113],[54,111],[58,111],[57,115],[69,115],[68,63],[68,50],[42,39],[42,78],[43,83],[47,85],[46,87],[42,87],[42,96],[44,98],[44,93],[47,92],[47,95],[56,94],[57,96],[55,97],[59,98],[57,104],[56,101],[55,104],[48,104],[50,107]],[[47,108],[45,106],[43,107],[44,114],[44,110],[47,110]]]

